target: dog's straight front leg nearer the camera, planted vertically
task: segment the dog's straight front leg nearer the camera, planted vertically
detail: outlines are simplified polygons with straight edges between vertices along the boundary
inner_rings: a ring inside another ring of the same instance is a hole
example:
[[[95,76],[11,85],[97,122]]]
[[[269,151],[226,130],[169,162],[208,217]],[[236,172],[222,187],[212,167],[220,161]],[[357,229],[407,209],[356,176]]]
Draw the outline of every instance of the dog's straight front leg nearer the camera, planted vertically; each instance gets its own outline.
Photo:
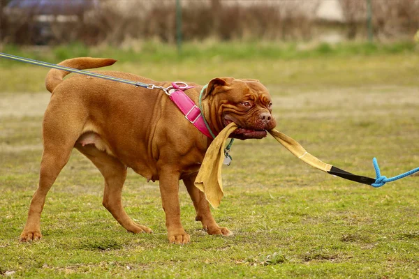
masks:
[[[179,172],[165,168],[160,172],[160,193],[163,210],[166,213],[166,227],[170,243],[184,244],[191,241],[180,223]]]

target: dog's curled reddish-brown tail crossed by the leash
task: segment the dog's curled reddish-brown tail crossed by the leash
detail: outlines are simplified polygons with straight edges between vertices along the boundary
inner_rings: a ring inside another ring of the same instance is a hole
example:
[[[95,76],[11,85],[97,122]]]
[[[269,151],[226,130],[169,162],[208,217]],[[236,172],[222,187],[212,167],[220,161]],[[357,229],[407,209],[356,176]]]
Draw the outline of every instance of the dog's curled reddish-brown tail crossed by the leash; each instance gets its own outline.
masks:
[[[58,65],[83,70],[110,66],[116,61],[117,60],[114,59],[80,57],[64,60]],[[45,77],[45,86],[47,87],[47,90],[52,93],[55,87],[57,87],[57,85],[62,82],[63,78],[69,73],[70,72],[66,72],[65,70],[51,69],[47,73],[47,77]]]

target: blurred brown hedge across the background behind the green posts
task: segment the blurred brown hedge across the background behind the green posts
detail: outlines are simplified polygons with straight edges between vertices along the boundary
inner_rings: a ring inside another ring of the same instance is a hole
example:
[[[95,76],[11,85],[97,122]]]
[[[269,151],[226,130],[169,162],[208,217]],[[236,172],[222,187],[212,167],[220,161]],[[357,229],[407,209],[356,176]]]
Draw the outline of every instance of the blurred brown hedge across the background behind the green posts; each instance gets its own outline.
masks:
[[[74,15],[35,14],[34,9],[10,8],[11,1],[19,0],[0,0],[3,43],[121,45],[130,40],[176,40],[175,0],[87,0],[98,6]],[[413,38],[419,29],[419,0],[181,0],[182,37],[365,40],[368,1],[374,40]]]

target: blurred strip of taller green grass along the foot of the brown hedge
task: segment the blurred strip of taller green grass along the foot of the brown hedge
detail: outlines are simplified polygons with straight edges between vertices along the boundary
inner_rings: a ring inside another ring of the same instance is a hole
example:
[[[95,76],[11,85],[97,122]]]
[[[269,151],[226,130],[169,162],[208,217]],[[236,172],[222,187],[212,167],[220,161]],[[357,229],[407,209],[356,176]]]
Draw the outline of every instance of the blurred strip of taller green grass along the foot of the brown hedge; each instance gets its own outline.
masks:
[[[87,47],[82,43],[62,45],[48,48],[17,47],[4,45],[2,52],[18,56],[28,56],[31,59],[47,60],[58,63],[64,59],[77,56],[109,56],[122,62],[167,62],[222,59],[222,61],[237,59],[307,59],[320,56],[353,56],[376,54],[400,54],[417,51],[415,43],[410,41],[388,44],[377,43],[339,43],[330,45],[277,43],[253,40],[249,42],[207,40],[205,42],[186,42],[179,52],[175,45],[159,43],[159,41],[133,41],[122,45],[123,51],[109,45]]]

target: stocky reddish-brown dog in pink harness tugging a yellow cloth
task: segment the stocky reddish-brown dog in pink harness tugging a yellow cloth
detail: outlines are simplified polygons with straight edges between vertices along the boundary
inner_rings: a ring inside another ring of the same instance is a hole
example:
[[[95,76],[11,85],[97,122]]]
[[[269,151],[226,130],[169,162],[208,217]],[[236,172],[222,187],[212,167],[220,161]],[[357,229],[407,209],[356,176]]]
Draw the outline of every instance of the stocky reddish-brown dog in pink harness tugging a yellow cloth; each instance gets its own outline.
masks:
[[[59,65],[87,69],[113,63],[112,59],[76,58]],[[102,73],[158,86],[170,85],[129,73]],[[152,232],[134,223],[122,207],[122,186],[126,169],[131,167],[146,179],[159,180],[170,243],[190,241],[180,221],[179,179],[191,196],[196,220],[202,222],[208,234],[231,234],[226,227],[217,225],[204,193],[193,184],[212,140],[189,123],[163,91],[86,75],[73,75],[63,81],[67,74],[53,69],[45,80],[52,97],[43,119],[41,173],[21,241],[41,238],[45,196],[68,162],[73,147],[100,170],[105,179],[103,206],[128,232]],[[196,87],[185,92],[198,103],[203,86],[189,85]],[[219,133],[234,121],[240,128],[233,137],[242,140],[263,138],[266,130],[276,126],[271,104],[267,89],[256,80],[214,78],[203,95],[204,116],[211,130]]]

